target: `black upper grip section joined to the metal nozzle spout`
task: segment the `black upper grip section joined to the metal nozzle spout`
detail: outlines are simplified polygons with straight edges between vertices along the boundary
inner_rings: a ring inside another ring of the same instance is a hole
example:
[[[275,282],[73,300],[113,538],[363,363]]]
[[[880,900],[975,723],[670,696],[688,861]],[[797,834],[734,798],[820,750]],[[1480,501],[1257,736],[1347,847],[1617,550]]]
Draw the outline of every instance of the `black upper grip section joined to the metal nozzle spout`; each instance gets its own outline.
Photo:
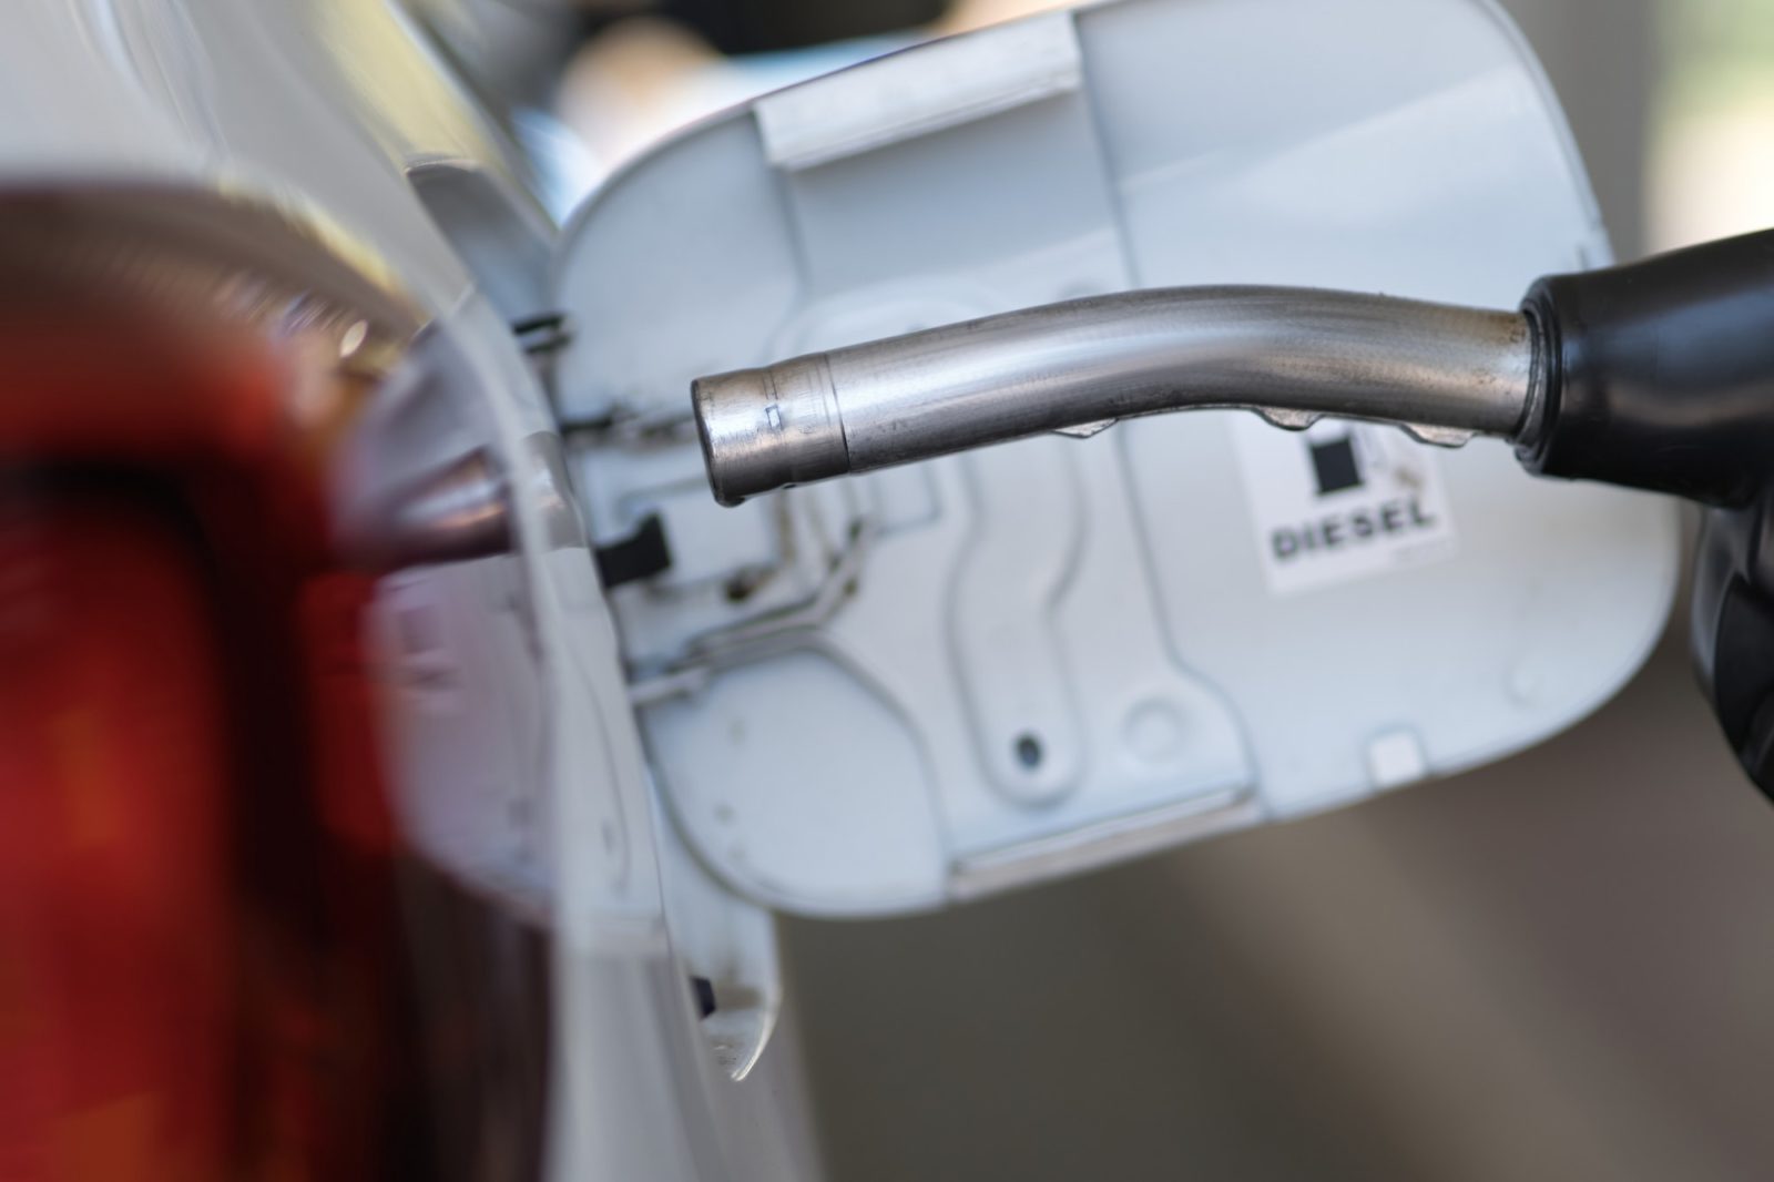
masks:
[[[1542,476],[1739,506],[1774,483],[1774,231],[1536,282]]]

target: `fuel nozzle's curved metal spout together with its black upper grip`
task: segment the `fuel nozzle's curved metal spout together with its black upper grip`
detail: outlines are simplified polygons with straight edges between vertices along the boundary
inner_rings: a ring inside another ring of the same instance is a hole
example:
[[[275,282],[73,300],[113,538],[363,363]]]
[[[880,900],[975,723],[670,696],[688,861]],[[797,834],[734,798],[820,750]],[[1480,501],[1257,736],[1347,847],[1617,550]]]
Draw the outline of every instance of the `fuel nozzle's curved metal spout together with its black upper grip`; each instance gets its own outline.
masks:
[[[701,378],[692,398],[722,504],[1205,406],[1495,435],[1536,474],[1731,504],[1774,469],[1774,232],[1547,277],[1517,311],[1291,288],[1095,296]]]

